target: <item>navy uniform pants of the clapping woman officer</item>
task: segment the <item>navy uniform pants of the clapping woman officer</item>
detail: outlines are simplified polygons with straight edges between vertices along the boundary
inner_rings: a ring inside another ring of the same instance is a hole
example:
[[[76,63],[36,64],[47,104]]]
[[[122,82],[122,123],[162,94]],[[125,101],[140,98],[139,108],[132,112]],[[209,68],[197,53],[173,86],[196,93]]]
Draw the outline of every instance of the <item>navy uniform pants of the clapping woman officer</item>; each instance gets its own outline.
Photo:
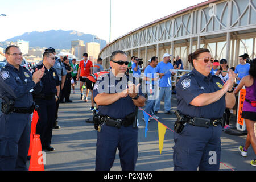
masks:
[[[186,125],[181,133],[174,132],[174,170],[218,171],[221,131],[221,125],[209,128]]]

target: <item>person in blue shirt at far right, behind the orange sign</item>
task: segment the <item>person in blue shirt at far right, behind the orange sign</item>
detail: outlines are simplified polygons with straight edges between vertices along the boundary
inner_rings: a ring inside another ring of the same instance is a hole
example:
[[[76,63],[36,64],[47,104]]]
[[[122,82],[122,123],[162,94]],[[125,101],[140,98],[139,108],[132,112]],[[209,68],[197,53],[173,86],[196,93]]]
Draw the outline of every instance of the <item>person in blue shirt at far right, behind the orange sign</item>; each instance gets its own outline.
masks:
[[[236,66],[235,73],[237,74],[237,82],[236,84],[239,84],[240,80],[242,80],[243,77],[246,75],[249,75],[250,70],[250,64],[246,63],[247,57],[245,55],[239,56],[239,62]]]

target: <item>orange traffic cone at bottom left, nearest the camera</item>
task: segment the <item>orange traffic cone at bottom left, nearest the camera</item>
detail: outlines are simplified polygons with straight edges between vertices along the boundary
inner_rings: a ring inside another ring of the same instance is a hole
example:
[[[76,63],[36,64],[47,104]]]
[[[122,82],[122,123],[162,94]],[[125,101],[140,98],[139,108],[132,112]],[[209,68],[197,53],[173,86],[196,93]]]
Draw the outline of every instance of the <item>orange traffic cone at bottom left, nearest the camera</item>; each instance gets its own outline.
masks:
[[[29,171],[44,171],[40,135],[34,135]]]

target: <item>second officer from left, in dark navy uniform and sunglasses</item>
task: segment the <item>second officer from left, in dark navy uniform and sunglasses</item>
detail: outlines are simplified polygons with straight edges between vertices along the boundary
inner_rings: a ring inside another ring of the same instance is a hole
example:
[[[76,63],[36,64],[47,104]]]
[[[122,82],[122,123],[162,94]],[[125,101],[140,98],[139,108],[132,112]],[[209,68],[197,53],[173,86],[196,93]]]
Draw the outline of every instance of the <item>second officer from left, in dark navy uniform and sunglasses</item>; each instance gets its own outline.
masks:
[[[41,81],[42,91],[35,94],[36,105],[38,109],[38,123],[36,125],[36,134],[40,135],[42,149],[53,151],[51,147],[52,129],[55,119],[56,102],[59,99],[60,82],[57,72],[53,67],[55,64],[55,55],[51,51],[44,52],[43,64],[37,65],[31,69],[33,74],[35,69],[45,68],[44,76]]]

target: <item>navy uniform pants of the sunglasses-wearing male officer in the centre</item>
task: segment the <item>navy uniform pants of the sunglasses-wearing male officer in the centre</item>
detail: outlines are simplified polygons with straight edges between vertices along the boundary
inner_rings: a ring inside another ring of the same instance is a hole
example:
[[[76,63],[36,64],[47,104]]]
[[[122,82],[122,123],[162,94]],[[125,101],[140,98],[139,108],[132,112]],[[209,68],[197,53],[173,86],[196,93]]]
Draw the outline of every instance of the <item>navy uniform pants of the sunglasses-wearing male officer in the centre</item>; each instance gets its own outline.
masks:
[[[96,171],[110,171],[117,148],[122,171],[134,171],[138,158],[138,127],[102,125],[96,144]]]

